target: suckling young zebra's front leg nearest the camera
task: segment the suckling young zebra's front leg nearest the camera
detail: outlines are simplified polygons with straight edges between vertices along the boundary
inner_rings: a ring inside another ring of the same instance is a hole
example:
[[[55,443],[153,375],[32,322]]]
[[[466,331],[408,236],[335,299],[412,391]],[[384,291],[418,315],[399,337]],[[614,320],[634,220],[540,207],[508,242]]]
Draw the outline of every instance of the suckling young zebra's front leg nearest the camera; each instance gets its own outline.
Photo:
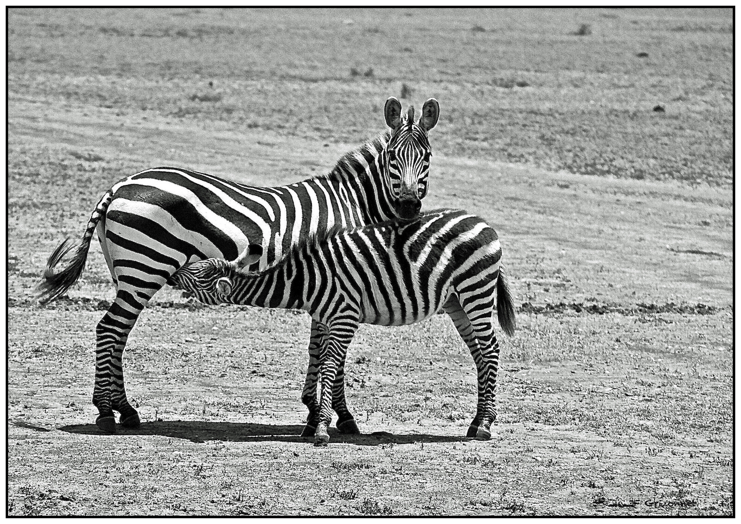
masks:
[[[358,329],[358,315],[353,311],[340,312],[330,325],[330,334],[327,343],[319,352],[319,380],[322,391],[319,397],[319,423],[314,435],[315,445],[327,445],[329,442],[328,428],[332,421],[332,406],[334,383],[350,340]]]

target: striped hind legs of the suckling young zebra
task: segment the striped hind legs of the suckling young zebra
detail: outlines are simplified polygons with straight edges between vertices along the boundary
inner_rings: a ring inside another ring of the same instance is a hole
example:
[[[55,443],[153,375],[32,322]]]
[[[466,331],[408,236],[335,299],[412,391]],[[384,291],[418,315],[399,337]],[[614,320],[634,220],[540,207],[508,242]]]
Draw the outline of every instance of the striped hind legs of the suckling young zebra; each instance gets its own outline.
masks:
[[[471,311],[465,311],[458,297],[451,296],[445,305],[445,313],[453,320],[458,334],[471,351],[473,362],[476,364],[476,384],[478,402],[476,402],[476,417],[468,426],[466,437],[476,440],[491,438],[491,424],[496,419],[494,388],[496,386],[496,371],[499,365],[499,344],[494,336],[494,327],[491,324],[492,305],[478,305]],[[472,321],[475,320],[475,322]]]

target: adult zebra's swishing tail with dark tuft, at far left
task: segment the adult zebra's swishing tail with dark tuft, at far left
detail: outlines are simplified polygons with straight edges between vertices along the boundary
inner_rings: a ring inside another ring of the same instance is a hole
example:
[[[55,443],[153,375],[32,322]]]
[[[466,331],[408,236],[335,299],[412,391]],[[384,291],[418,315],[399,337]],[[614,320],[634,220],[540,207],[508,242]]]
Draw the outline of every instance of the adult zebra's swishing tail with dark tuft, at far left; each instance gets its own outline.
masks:
[[[75,246],[70,243],[70,239],[66,239],[51,253],[49,260],[47,261],[47,267],[44,270],[44,276],[36,287],[36,293],[38,293],[39,302],[41,304],[47,304],[47,302],[58,299],[59,296],[66,293],[67,290],[77,282],[77,279],[80,278],[82,270],[85,268],[87,251],[90,250],[90,241],[93,239],[95,228],[98,225],[98,222],[100,222],[100,220],[105,216],[105,212],[112,199],[113,193],[108,190],[103,195],[103,198],[100,199],[98,205],[96,205],[93,214],[90,215],[90,220],[87,222],[87,228],[85,228],[85,233],[82,236],[82,242],[77,246],[75,256],[62,270],[55,269],[56,265],[58,265],[64,255],[72,251]]]

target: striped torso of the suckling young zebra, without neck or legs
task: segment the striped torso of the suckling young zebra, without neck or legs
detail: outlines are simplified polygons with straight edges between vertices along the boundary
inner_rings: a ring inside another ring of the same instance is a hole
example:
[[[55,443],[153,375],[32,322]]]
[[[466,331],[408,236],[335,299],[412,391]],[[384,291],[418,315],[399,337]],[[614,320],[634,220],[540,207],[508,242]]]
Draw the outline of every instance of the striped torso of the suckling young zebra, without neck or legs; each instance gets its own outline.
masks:
[[[325,256],[357,297],[360,322],[407,325],[439,312],[451,293],[480,290],[493,299],[502,250],[484,219],[445,209],[343,232]]]

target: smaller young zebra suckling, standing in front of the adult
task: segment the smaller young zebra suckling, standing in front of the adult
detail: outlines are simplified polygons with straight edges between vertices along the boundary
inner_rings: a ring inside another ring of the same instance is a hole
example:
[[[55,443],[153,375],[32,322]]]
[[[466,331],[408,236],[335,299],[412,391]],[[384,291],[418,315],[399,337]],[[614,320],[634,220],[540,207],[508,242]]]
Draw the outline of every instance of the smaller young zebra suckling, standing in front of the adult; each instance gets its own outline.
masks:
[[[329,231],[297,245],[273,268],[246,271],[262,247],[236,262],[208,259],[185,265],[173,281],[202,302],[304,309],[325,336],[320,351],[321,401],[315,442],[329,442],[336,372],[360,323],[405,325],[441,309],[468,345],[478,374],[479,402],[468,437],[491,438],[499,325],[514,334],[514,304],[501,268],[496,231],[462,210],[437,210],[419,220]]]

